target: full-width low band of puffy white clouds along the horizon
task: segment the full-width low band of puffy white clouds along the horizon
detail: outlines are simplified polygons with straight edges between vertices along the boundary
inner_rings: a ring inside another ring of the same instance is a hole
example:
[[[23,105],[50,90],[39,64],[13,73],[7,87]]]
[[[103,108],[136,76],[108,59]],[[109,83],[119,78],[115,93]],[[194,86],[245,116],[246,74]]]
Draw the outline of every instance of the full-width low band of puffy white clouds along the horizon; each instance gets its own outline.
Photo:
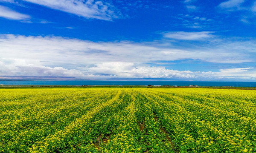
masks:
[[[2,76],[2,77],[1,77]],[[100,62],[83,69],[66,69],[41,65],[36,60],[0,58],[0,78],[57,77],[79,79],[166,78],[185,80],[251,79],[256,80],[256,68],[227,68],[219,72],[170,70],[164,67],[136,66],[132,62]]]

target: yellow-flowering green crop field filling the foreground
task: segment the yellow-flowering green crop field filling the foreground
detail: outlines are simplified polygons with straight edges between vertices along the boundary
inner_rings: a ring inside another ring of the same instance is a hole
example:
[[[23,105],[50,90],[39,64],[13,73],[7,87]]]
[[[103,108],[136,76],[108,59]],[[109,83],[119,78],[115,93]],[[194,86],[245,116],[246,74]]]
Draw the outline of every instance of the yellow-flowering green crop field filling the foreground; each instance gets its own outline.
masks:
[[[0,89],[0,152],[256,152],[256,92]]]

